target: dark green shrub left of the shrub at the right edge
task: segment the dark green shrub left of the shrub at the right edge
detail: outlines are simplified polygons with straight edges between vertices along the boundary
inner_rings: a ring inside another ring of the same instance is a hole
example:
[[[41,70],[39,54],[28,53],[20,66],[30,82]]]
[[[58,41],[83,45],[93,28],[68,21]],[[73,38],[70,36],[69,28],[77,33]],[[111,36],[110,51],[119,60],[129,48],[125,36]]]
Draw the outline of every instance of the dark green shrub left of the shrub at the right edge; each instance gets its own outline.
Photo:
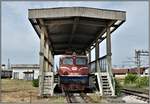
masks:
[[[134,84],[136,83],[138,76],[136,74],[128,73],[125,77],[124,83],[125,84]]]

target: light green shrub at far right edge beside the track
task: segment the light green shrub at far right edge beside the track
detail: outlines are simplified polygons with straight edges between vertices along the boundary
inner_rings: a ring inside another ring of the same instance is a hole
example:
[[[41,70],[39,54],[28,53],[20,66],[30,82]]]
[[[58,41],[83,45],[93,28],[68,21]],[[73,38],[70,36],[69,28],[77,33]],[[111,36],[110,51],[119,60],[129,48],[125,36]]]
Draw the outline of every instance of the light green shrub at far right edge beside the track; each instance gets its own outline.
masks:
[[[149,86],[149,79],[148,77],[139,77],[136,79],[136,86],[137,87],[144,87]]]

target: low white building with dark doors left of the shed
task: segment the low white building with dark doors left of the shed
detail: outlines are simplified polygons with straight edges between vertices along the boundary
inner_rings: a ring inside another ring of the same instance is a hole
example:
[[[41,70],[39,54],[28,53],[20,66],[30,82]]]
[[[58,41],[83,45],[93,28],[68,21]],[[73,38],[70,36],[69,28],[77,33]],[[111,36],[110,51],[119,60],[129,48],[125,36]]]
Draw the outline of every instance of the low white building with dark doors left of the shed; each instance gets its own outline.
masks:
[[[33,80],[38,79],[38,64],[12,64],[12,79]]]

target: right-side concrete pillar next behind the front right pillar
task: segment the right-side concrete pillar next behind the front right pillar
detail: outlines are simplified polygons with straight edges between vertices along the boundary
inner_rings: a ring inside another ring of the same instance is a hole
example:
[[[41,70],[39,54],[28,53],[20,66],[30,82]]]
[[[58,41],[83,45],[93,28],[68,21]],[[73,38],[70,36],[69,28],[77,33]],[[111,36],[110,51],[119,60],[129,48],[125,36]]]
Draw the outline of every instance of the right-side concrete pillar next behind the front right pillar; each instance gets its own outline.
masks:
[[[95,47],[95,60],[96,60],[96,62],[95,62],[95,72],[98,72],[100,70],[98,58],[99,58],[99,43],[97,41],[96,42],[96,47]]]

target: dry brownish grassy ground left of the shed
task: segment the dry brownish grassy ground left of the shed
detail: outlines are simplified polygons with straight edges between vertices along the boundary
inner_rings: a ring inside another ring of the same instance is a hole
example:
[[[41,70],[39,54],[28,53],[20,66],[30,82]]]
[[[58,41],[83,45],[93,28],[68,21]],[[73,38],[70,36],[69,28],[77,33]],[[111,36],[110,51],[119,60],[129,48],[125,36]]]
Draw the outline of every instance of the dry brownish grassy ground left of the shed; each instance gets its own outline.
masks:
[[[63,96],[39,98],[38,88],[32,86],[31,81],[2,79],[2,102],[45,102],[47,104],[65,103]]]

